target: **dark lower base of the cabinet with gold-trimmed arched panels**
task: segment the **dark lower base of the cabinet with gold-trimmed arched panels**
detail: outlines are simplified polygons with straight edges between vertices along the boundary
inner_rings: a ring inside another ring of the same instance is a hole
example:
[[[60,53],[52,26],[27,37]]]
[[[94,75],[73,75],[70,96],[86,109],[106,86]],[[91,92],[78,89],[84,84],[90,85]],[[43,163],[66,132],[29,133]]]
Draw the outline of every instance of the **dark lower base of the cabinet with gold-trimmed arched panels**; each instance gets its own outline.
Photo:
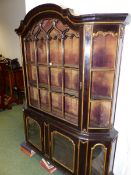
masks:
[[[72,175],[113,175],[117,131],[81,133],[25,112],[28,144]]]

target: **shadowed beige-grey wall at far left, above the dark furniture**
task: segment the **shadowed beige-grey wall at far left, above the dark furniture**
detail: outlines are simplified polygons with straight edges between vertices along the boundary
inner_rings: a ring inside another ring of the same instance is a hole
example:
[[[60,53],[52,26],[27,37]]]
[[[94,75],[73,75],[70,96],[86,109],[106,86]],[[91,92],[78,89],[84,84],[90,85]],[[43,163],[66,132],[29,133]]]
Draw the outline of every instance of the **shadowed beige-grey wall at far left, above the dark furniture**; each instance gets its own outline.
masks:
[[[25,16],[24,0],[0,0],[0,54],[18,58],[21,63],[19,37],[14,32]]]

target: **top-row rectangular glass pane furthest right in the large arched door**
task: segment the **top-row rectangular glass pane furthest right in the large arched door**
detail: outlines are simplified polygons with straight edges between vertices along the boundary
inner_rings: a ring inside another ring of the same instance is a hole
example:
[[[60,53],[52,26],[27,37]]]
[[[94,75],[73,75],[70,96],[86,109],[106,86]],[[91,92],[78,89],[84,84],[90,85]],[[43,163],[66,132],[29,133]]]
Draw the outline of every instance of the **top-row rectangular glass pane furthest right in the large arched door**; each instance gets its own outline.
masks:
[[[67,37],[64,46],[65,65],[79,66],[79,38]]]

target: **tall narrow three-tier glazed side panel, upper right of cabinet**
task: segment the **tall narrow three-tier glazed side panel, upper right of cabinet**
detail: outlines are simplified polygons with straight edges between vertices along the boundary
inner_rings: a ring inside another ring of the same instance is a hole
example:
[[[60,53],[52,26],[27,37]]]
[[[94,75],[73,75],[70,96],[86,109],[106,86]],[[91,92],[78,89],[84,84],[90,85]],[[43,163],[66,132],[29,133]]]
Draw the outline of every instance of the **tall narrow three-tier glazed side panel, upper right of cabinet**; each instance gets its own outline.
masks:
[[[93,26],[88,110],[88,129],[90,130],[112,127],[118,49],[119,25]]]

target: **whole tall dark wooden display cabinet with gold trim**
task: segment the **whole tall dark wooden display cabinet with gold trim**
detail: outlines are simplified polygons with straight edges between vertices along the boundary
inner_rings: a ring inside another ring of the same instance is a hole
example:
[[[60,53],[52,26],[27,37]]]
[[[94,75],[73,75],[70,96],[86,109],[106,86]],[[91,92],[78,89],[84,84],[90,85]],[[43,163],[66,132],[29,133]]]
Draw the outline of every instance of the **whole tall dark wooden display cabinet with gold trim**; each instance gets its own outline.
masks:
[[[26,141],[74,175],[113,174],[121,51],[128,14],[31,10],[20,36]]]

